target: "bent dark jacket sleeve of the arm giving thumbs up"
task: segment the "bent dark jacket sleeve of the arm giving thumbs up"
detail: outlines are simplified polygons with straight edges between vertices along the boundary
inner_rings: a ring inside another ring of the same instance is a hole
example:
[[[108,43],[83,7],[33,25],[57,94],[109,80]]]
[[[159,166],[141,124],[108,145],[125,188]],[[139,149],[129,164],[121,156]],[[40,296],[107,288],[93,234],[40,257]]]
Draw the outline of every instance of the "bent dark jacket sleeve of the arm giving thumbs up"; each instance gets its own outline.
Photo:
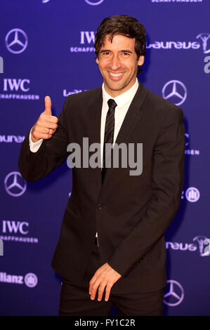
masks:
[[[29,133],[22,142],[18,166],[22,178],[35,181],[47,176],[55,167],[67,158],[67,105],[68,98],[63,105],[63,112],[58,116],[58,128],[52,138],[44,140],[37,152],[29,148]]]

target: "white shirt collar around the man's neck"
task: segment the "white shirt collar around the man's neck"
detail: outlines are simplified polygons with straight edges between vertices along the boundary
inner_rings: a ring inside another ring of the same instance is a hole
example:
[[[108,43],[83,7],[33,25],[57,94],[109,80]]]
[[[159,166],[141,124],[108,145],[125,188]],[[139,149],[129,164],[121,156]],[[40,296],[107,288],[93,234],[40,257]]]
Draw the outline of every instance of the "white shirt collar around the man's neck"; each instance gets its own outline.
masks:
[[[102,85],[102,92],[103,92],[103,102],[107,105],[107,101],[112,98],[117,103],[117,107],[124,107],[126,103],[131,103],[133,100],[134,95],[136,94],[136,91],[138,89],[138,79],[136,78],[135,84],[129,89],[129,91],[126,91],[122,93],[121,95],[116,96],[116,98],[112,98],[107,91],[105,91],[104,83]]]

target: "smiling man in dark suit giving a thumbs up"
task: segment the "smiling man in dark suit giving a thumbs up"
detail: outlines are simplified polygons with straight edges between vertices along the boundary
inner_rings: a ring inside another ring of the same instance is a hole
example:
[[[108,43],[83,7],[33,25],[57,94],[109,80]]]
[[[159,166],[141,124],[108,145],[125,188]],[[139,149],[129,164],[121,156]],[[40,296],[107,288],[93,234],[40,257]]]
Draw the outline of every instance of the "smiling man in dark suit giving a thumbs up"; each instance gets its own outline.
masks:
[[[101,145],[103,169],[72,169],[52,261],[63,276],[60,315],[109,315],[112,305],[118,315],[162,315],[164,232],[181,200],[185,133],[182,110],[136,79],[145,46],[138,20],[105,18],[95,41],[102,88],[68,97],[58,118],[46,97],[44,113],[22,143],[25,180],[39,180],[62,164],[70,143],[82,146],[86,137],[89,145]],[[142,173],[131,175],[131,166],[106,168],[105,143],[142,143]]]

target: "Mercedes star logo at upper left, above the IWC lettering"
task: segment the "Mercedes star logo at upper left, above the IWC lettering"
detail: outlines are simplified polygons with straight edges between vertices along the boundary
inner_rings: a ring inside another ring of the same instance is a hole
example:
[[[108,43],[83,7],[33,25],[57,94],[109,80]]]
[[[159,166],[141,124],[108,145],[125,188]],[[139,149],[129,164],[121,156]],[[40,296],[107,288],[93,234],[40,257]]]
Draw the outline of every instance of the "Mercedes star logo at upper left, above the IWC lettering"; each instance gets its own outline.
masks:
[[[13,54],[20,54],[27,47],[27,34],[22,29],[11,29],[6,34],[6,48]]]

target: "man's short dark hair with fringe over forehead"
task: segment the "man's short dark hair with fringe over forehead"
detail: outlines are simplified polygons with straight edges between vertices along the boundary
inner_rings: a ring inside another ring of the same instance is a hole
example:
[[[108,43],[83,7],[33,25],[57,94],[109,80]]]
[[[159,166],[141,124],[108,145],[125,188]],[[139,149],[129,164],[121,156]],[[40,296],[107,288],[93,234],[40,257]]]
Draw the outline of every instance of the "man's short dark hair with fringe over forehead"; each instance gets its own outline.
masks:
[[[112,42],[116,34],[120,34],[125,37],[135,39],[135,51],[139,58],[140,55],[146,55],[146,32],[145,27],[143,27],[136,18],[132,18],[127,15],[116,15],[105,18],[99,25],[95,37],[95,48],[96,55],[98,57],[101,46],[105,42],[105,37],[107,34],[110,35],[110,41]],[[142,69],[138,65],[138,73]]]

